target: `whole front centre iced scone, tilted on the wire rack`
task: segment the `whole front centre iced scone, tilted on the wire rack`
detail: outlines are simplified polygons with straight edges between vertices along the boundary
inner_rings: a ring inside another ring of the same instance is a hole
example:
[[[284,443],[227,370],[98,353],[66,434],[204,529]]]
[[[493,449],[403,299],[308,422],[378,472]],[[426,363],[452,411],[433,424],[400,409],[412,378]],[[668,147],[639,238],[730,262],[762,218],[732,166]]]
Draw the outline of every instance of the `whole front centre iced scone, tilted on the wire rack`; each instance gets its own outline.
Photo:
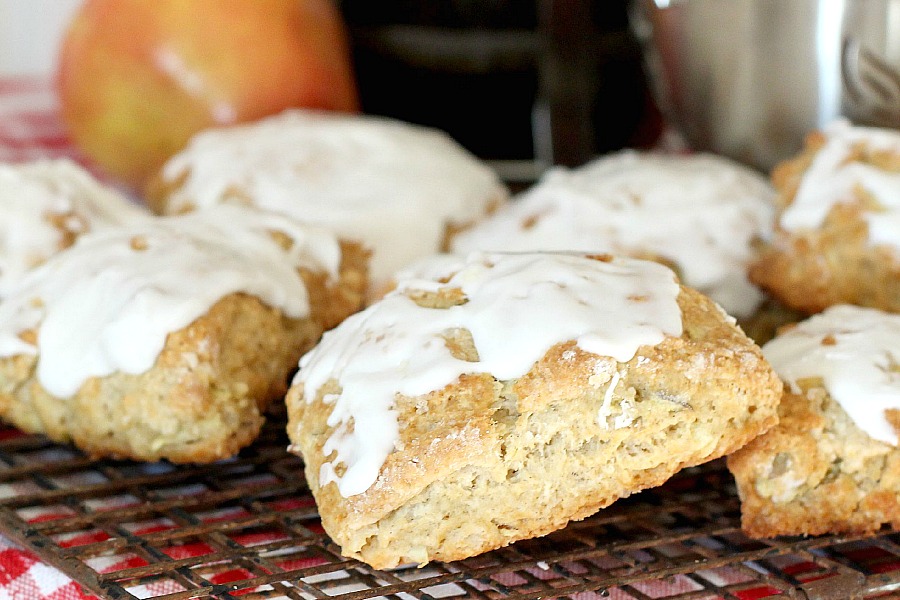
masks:
[[[781,383],[655,262],[444,257],[325,334],[288,392],[322,525],[377,568],[583,519],[775,423]]]

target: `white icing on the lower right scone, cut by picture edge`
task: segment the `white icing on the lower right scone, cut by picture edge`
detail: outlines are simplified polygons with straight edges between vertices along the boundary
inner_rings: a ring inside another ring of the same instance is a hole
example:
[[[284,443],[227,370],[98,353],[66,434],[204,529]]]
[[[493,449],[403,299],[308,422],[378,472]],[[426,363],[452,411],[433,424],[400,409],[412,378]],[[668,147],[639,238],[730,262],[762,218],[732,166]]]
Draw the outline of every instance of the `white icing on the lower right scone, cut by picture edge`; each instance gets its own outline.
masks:
[[[833,306],[763,346],[778,375],[820,377],[825,389],[870,437],[898,445],[885,410],[900,409],[900,315]]]

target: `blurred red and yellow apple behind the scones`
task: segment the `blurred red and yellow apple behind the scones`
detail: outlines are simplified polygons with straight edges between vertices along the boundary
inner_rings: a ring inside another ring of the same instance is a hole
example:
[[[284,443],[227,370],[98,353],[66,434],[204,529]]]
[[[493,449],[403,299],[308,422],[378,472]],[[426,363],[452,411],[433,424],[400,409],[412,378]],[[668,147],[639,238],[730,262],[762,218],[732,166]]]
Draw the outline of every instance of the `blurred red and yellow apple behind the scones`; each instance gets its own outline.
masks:
[[[136,189],[202,129],[359,106],[333,0],[86,0],[56,83],[74,144]]]

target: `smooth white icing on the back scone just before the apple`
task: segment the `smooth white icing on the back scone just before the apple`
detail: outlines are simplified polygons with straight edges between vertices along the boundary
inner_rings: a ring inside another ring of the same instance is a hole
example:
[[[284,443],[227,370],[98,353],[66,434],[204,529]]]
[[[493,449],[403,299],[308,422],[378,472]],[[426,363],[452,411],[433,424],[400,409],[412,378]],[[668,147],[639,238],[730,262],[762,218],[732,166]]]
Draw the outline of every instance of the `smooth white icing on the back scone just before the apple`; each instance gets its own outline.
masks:
[[[372,248],[376,282],[439,251],[447,224],[478,219],[506,197],[497,174],[442,132],[299,110],[195,136],[163,176],[186,172],[169,212],[239,189],[263,208]]]

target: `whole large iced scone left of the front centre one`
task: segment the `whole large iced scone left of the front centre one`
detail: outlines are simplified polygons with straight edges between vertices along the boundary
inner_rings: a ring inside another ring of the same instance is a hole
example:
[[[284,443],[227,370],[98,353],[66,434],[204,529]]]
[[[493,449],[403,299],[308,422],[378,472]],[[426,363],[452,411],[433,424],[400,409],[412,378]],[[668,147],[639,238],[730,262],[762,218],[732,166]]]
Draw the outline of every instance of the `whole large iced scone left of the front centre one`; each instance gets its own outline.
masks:
[[[359,308],[365,260],[236,206],[86,234],[0,303],[0,418],[93,456],[232,456]]]

